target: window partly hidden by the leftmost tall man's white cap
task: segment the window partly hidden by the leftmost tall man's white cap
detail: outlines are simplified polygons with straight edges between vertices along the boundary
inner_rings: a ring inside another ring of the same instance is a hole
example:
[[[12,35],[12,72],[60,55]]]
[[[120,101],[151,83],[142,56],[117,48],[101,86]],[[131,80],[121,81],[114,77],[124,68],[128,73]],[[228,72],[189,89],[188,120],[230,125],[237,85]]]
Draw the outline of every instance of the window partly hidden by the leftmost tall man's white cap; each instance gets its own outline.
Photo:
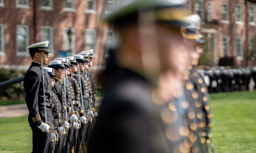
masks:
[[[49,41],[49,47],[53,52],[53,28],[43,26],[41,28],[41,41]]]

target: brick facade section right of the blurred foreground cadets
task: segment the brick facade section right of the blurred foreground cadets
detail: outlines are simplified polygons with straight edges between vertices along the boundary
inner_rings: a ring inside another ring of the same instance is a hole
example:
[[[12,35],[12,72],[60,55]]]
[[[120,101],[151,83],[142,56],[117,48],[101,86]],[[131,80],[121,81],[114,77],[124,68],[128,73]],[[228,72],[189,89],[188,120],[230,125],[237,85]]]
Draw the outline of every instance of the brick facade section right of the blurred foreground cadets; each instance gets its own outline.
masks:
[[[251,65],[247,55],[256,34],[255,0],[190,0],[188,5],[202,18],[213,65]]]

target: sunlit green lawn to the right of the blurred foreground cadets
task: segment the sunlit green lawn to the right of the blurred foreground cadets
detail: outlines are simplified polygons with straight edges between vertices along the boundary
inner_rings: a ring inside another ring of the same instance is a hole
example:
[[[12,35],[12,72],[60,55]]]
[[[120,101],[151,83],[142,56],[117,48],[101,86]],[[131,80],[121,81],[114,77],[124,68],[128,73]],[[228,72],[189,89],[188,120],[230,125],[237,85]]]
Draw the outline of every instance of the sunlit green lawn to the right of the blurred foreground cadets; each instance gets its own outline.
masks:
[[[212,94],[212,140],[218,153],[256,152],[256,92]]]

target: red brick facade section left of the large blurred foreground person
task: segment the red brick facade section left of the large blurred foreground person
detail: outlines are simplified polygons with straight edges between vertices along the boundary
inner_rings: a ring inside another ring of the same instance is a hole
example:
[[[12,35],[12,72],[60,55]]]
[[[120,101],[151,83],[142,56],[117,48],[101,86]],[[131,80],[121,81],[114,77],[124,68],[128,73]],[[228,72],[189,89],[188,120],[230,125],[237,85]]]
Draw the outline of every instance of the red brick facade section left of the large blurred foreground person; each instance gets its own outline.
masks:
[[[113,5],[113,0],[0,0],[0,65],[26,68],[31,64],[26,47],[46,40],[50,60],[70,50],[94,49],[95,65],[102,65],[106,38],[111,41],[113,32],[100,15]]]

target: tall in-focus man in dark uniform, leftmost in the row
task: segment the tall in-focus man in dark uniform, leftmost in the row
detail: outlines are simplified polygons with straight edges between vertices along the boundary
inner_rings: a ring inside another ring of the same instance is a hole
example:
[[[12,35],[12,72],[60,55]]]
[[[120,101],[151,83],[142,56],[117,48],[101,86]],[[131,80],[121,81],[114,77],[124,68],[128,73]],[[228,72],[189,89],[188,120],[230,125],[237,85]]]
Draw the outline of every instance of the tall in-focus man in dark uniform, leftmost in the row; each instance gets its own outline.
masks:
[[[53,123],[52,108],[54,105],[52,103],[51,80],[47,71],[42,70],[41,59],[43,65],[47,64],[50,57],[48,54],[52,52],[49,50],[49,41],[33,44],[27,49],[29,49],[29,54],[32,57],[32,64],[25,74],[24,88],[29,111],[28,122],[32,129],[32,153],[46,153],[51,136],[51,133],[47,131],[50,130],[51,125],[43,122],[47,118],[48,122]],[[44,82],[42,77],[44,77]],[[44,99],[46,108],[44,107]]]

